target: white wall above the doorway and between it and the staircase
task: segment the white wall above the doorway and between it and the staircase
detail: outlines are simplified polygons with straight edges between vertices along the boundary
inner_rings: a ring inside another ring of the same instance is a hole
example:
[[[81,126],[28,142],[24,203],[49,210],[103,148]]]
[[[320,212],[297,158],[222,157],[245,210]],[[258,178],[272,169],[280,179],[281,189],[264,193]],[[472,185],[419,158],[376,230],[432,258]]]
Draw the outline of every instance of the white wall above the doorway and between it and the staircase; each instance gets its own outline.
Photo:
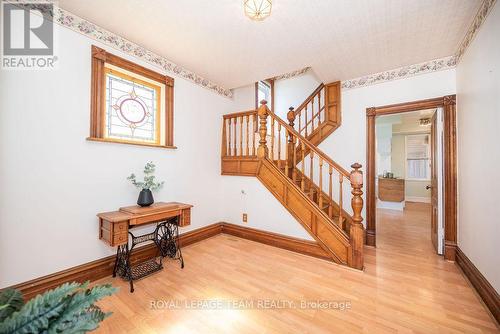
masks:
[[[455,94],[455,83],[455,69],[450,69],[342,90],[342,126],[321,143],[320,149],[347,170],[354,162],[361,163],[365,170],[366,108]]]

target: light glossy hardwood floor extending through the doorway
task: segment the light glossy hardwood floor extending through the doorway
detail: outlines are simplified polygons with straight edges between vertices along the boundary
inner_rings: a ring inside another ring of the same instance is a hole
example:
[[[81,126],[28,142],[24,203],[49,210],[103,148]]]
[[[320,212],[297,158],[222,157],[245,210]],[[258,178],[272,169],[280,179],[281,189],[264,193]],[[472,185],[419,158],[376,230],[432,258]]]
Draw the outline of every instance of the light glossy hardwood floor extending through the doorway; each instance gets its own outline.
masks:
[[[133,294],[121,279],[98,281],[121,288],[100,303],[114,314],[98,332],[498,333],[457,266],[435,255],[429,210],[422,204],[404,213],[379,210],[378,248],[366,248],[364,272],[227,235],[190,245],[183,270],[168,262],[138,281]],[[193,308],[207,300],[240,307]],[[350,308],[301,308],[303,300]],[[177,309],[166,307],[175,301]],[[295,308],[265,309],[265,301]]]

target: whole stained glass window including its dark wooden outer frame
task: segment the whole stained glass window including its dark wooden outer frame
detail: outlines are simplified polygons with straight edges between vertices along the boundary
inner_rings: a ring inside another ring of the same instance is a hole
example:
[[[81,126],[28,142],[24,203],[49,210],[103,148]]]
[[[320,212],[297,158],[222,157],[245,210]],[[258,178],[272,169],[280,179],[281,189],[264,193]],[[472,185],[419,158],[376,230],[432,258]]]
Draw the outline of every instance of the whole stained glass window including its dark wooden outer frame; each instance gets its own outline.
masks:
[[[173,147],[173,82],[93,46],[89,139]]]

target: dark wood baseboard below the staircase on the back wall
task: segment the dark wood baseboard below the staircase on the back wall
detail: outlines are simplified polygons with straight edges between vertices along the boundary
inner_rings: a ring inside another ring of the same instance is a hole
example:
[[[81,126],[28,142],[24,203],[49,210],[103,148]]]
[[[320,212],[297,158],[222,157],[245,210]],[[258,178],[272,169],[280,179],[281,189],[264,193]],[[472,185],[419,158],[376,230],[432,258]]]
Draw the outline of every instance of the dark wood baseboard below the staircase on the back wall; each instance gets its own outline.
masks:
[[[222,233],[331,261],[331,257],[315,241],[293,238],[229,223],[222,223]]]

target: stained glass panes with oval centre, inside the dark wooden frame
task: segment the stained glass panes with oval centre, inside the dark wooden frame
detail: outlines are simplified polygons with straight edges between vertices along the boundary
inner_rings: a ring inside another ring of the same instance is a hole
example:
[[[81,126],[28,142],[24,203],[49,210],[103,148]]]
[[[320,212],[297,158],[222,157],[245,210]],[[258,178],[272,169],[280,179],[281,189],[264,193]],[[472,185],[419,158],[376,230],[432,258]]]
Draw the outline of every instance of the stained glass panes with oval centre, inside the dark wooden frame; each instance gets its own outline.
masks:
[[[160,143],[161,87],[105,68],[106,138]]]

